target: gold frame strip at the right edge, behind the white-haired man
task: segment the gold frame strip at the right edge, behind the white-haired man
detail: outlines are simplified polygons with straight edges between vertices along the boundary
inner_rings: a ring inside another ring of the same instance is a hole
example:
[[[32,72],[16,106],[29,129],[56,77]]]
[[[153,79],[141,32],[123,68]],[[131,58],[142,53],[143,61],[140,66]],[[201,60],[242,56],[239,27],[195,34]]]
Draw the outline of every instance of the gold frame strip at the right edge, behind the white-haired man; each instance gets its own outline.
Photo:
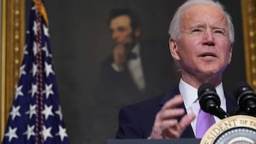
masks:
[[[247,82],[256,90],[256,0],[241,0]]]

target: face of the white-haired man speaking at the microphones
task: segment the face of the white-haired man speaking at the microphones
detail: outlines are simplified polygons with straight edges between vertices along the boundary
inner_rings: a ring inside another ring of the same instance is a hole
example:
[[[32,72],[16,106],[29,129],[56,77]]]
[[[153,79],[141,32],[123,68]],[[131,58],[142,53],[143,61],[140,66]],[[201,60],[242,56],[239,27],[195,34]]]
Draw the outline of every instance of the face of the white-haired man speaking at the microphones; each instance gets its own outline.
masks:
[[[189,6],[181,18],[178,40],[170,40],[173,55],[183,76],[196,79],[217,77],[230,63],[233,45],[228,35],[225,13],[215,6]],[[175,45],[175,46],[174,46]]]

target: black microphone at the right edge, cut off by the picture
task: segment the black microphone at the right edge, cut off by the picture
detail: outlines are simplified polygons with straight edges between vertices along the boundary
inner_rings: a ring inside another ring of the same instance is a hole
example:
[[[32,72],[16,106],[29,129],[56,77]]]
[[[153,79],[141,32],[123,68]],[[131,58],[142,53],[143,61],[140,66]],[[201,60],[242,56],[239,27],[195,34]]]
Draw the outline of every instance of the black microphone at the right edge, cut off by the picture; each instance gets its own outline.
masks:
[[[240,82],[233,89],[235,99],[238,101],[239,110],[248,115],[256,115],[256,94],[246,82]]]

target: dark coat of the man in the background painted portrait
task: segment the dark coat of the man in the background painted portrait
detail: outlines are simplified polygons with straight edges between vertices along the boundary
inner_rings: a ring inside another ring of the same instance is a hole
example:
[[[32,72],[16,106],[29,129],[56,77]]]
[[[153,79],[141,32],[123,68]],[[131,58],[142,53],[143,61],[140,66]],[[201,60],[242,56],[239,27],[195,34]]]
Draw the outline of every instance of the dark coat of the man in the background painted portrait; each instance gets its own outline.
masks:
[[[132,75],[126,68],[123,72],[116,72],[112,68],[113,55],[102,62],[100,82],[95,87],[95,99],[100,104],[118,103],[118,106],[134,104],[134,102],[149,99],[156,94],[169,92],[169,86],[176,84],[174,70],[171,67],[172,59],[168,45],[154,41],[139,43],[142,71],[145,80],[145,90],[137,89]],[[121,107],[119,107],[120,109]],[[119,109],[117,111],[119,111]]]

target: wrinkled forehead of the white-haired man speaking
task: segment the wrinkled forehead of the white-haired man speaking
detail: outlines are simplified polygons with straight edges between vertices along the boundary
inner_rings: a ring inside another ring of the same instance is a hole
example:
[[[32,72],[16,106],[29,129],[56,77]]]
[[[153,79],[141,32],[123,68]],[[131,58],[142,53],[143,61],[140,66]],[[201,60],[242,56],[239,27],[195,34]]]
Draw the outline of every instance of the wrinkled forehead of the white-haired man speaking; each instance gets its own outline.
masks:
[[[188,6],[181,16],[181,29],[192,26],[205,26],[209,24],[214,28],[225,28],[228,31],[228,21],[225,13],[216,6],[209,4],[194,4]]]

